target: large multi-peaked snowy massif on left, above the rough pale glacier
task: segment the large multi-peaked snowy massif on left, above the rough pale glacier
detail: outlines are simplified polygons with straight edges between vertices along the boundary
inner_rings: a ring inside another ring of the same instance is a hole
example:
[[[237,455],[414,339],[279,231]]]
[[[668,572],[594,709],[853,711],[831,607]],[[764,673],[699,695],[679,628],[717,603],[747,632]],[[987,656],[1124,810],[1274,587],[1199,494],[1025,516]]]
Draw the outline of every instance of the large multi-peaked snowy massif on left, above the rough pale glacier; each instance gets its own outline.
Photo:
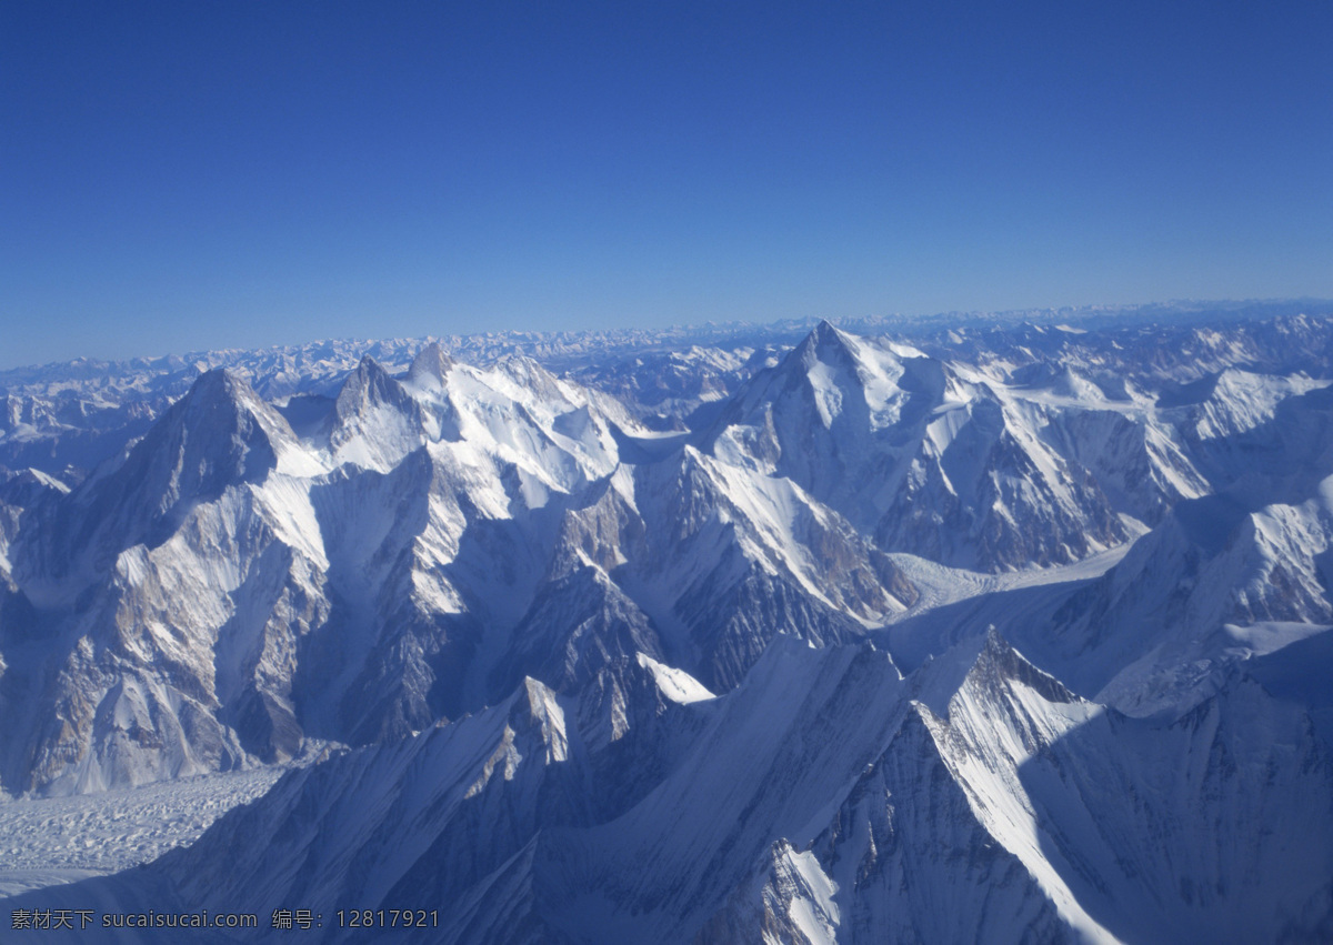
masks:
[[[655,461],[682,476],[623,468],[644,431],[532,361],[428,348],[400,381],[363,359],[325,404],[288,411],[297,436],[212,372],[76,489],[11,489],[31,505],[4,532],[11,789],[403,737],[525,674],[569,686],[640,653],[725,688],[776,634],[848,638],[910,598],[789,482],[672,448]],[[714,522],[697,560],[665,544],[690,502]],[[15,649],[36,633],[53,644]]]

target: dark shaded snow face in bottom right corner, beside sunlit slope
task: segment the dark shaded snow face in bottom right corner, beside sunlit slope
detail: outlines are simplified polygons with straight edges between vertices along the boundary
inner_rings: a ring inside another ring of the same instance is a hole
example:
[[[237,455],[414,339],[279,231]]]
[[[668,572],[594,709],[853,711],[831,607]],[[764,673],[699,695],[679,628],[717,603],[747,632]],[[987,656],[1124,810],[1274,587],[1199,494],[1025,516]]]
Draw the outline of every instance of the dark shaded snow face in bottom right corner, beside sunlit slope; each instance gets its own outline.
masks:
[[[1081,726],[1020,777],[1046,857],[1118,938],[1316,941],[1333,918],[1330,770],[1304,712],[1232,680],[1174,724]]]

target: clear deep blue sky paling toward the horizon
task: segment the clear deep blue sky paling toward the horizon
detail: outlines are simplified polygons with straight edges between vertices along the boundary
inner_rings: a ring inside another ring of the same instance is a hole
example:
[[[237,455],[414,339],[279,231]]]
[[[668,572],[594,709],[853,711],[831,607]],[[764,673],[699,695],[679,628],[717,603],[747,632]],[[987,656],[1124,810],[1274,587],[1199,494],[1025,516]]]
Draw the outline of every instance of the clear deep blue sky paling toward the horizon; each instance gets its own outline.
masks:
[[[0,367],[1333,296],[1333,3],[0,4]]]

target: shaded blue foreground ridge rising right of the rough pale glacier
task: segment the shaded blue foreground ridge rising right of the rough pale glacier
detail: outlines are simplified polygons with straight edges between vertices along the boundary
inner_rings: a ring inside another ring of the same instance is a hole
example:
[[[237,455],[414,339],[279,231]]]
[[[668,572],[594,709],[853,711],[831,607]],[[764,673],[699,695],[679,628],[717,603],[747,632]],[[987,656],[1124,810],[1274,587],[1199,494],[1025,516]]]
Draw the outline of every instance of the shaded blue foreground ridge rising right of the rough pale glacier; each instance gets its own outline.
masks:
[[[264,912],[293,897],[325,914],[349,901],[467,902],[539,832],[615,817],[673,764],[708,701],[676,698],[700,689],[684,674],[666,689],[657,680],[633,661],[577,697],[525,680],[477,716],[288,776],[159,866],[188,898]],[[241,869],[219,886],[219,864],[237,854]],[[441,910],[443,941],[457,916]]]

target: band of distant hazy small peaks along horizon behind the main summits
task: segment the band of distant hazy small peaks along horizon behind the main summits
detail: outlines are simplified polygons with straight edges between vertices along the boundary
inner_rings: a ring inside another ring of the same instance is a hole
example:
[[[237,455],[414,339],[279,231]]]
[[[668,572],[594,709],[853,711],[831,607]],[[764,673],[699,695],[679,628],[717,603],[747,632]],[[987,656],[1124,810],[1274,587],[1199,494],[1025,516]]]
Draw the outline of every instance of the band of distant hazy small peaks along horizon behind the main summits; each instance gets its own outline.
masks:
[[[1298,315],[1305,311],[1309,315]],[[1326,307],[1324,309],[1326,312]],[[1198,324],[1212,317],[1212,324]],[[1042,324],[1054,321],[1056,324]],[[1226,307],[1149,305],[1138,309],[1020,312],[948,319],[842,320],[862,335],[892,332],[921,351],[996,369],[1033,369],[1050,392],[1157,391],[1240,368],[1274,376],[1322,377],[1333,353],[1333,323],[1317,308],[1289,303]],[[0,465],[36,467],[73,481],[151,423],[195,379],[224,368],[284,409],[312,407],[336,395],[367,356],[389,373],[404,371],[431,344],[456,360],[493,364],[513,355],[572,372],[587,387],[612,393],[661,429],[697,427],[717,397],[800,341],[812,321],[623,332],[488,332],[472,337],[317,341],[257,351],[69,364],[0,372]],[[1068,384],[1065,383],[1068,381]],[[1120,395],[1116,395],[1120,396]],[[700,409],[704,408],[704,409]]]

